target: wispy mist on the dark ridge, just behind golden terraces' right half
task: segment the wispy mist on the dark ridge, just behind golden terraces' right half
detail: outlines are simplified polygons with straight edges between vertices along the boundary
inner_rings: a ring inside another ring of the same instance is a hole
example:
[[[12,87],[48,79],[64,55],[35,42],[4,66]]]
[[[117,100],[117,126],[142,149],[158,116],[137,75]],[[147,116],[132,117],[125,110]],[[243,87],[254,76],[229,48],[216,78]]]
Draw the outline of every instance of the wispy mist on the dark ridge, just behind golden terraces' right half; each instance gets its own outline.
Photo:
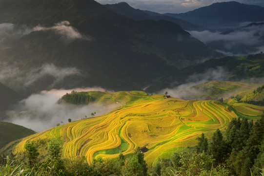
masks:
[[[223,67],[218,67],[217,69],[210,68],[204,73],[194,73],[193,75],[189,76],[186,79],[187,83],[185,84],[175,88],[165,88],[158,93],[163,94],[165,91],[167,91],[169,95],[180,99],[201,99],[204,97],[203,91],[201,89],[193,88],[193,86],[214,80],[221,81],[228,75],[230,75],[230,73],[224,70]]]

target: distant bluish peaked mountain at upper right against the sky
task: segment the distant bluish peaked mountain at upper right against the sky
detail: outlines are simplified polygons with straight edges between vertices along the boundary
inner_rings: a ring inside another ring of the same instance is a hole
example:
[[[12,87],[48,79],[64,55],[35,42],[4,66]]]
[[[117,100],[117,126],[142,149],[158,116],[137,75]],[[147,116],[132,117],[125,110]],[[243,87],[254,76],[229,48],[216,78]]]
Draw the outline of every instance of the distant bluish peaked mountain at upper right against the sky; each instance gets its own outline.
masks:
[[[164,15],[221,31],[223,27],[237,27],[242,22],[264,21],[264,7],[236,1],[217,2],[186,13]]]

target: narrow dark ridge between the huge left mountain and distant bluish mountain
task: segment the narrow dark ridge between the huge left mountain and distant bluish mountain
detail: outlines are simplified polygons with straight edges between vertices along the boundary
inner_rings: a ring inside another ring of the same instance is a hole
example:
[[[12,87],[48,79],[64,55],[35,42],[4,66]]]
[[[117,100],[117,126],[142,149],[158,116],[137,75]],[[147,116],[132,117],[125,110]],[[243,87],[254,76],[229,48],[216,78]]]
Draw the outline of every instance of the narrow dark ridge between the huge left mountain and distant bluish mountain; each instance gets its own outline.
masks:
[[[161,15],[159,13],[155,12],[150,12],[150,11],[143,11],[140,9],[134,9],[131,7],[129,4],[126,2],[120,2],[116,4],[106,4],[104,5],[106,8],[109,10],[120,14],[124,15],[128,18],[131,18],[133,20],[141,21],[141,20],[154,20],[154,21],[160,21],[160,20],[165,20],[165,21],[170,21],[174,22],[176,24],[179,24],[184,30],[196,30],[196,31],[203,31],[206,30],[206,28],[192,24],[190,22],[185,22],[181,19],[177,19],[174,17],[170,17],[167,15]]]

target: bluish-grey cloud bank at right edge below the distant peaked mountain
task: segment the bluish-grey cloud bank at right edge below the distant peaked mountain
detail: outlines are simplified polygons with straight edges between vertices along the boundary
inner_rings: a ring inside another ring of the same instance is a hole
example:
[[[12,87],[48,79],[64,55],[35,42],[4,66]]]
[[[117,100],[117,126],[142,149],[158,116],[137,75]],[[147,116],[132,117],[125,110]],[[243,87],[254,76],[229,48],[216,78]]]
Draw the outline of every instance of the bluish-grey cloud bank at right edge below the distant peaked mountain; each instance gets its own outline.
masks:
[[[248,23],[243,23],[243,25]],[[244,55],[263,51],[264,25],[244,26],[227,34],[208,30],[202,32],[189,31],[189,33],[212,49],[227,55],[239,55],[240,52]]]

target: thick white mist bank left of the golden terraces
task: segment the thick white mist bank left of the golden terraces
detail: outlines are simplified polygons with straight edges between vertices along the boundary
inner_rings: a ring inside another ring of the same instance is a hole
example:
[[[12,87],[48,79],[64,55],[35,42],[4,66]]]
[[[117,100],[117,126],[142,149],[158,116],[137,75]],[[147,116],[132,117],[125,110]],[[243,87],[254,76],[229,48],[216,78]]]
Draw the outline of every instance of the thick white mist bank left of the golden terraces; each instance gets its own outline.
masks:
[[[75,88],[78,91],[105,91],[103,88]],[[68,119],[81,120],[85,116],[90,117],[92,112],[96,115],[102,115],[110,110],[117,108],[114,105],[89,104],[76,106],[72,104],[58,103],[62,95],[70,90],[52,89],[50,91],[41,91],[39,94],[33,94],[20,101],[15,110],[9,111],[9,122],[41,132],[55,127],[57,123],[61,125],[68,123]],[[119,105],[120,106],[120,105]],[[62,123],[63,122],[63,123]]]

